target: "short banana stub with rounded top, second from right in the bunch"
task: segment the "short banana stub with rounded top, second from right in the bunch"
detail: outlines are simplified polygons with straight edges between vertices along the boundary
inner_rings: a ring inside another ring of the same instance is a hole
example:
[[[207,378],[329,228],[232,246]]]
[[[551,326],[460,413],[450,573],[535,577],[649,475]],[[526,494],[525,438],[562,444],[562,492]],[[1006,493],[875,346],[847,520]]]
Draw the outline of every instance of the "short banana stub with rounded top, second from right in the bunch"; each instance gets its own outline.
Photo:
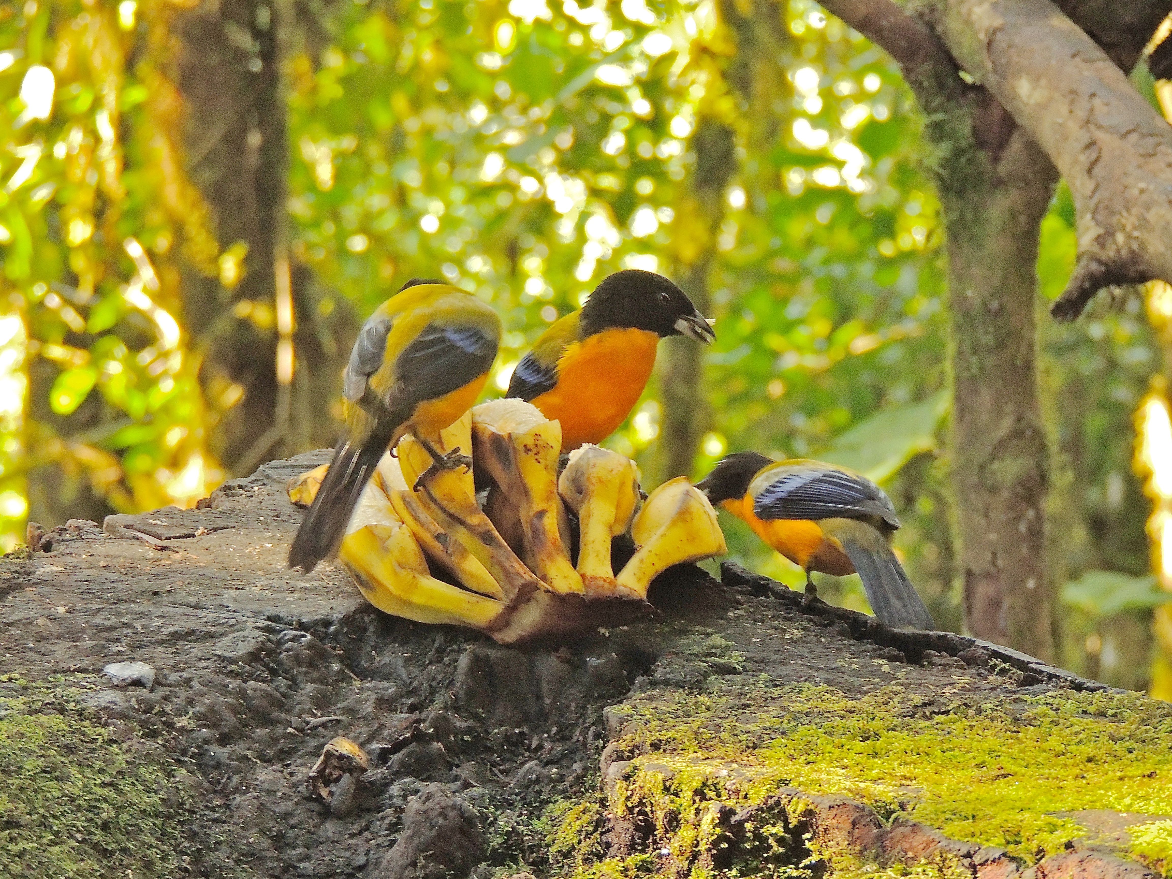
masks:
[[[611,540],[626,533],[639,506],[639,466],[626,455],[582,445],[558,478],[563,500],[578,515],[578,573],[587,595],[614,594]],[[643,598],[629,591],[625,597]]]

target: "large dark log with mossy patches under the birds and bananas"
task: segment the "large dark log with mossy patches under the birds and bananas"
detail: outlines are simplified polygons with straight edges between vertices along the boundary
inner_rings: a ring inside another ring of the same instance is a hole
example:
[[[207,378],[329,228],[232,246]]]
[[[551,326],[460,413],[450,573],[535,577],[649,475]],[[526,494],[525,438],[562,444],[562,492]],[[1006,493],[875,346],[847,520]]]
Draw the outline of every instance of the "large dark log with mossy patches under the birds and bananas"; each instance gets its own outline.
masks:
[[[1172,875],[1170,706],[731,565],[572,643],[396,620],[285,568],[322,459],[0,561],[0,875]]]

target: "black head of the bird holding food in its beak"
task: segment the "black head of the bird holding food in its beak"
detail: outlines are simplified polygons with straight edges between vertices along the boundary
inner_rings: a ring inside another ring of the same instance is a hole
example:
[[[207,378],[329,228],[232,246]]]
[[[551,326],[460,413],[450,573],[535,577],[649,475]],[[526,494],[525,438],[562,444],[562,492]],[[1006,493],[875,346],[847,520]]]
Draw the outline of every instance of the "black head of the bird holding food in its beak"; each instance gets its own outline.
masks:
[[[633,327],[660,336],[688,335],[706,345],[716,338],[687,294],[655,272],[627,268],[607,277],[581,312],[586,334]]]

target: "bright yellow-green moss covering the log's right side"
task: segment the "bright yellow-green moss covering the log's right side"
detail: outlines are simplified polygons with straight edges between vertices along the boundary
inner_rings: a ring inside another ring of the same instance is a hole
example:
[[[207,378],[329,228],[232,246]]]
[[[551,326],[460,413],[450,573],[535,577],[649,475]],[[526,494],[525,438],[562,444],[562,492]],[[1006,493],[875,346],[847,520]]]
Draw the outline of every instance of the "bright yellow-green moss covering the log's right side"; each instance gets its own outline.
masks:
[[[649,820],[654,844],[689,865],[680,875],[711,874],[706,858],[722,845],[711,820],[720,804],[768,803],[781,788],[847,796],[885,819],[907,816],[1027,864],[1086,833],[1058,813],[1172,815],[1172,708],[1136,694],[983,702],[892,684],[849,699],[830,687],[747,687],[742,679],[706,694],[645,694],[628,710],[624,744],[641,756],[611,809]],[[800,871],[786,816],[762,818],[755,845],[772,840],[789,858],[758,851],[755,859],[775,871],[761,874]],[[1134,857],[1172,874],[1172,822],[1134,827],[1131,839]],[[875,873],[870,865],[830,866],[836,875]],[[740,867],[722,868],[732,875]],[[931,872],[947,874],[947,865]]]

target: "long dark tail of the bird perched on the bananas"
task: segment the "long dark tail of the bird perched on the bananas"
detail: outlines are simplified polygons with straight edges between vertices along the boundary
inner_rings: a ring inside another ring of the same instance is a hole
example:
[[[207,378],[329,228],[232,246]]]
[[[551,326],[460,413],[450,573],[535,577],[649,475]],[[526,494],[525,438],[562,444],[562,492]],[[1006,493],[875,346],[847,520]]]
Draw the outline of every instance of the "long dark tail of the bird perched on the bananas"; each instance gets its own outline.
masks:
[[[326,478],[321,481],[318,496],[293,538],[289,567],[300,567],[309,573],[319,561],[338,552],[350,513],[387,451],[391,434],[393,428],[377,424],[361,445],[350,443],[346,437],[338,441]]]

